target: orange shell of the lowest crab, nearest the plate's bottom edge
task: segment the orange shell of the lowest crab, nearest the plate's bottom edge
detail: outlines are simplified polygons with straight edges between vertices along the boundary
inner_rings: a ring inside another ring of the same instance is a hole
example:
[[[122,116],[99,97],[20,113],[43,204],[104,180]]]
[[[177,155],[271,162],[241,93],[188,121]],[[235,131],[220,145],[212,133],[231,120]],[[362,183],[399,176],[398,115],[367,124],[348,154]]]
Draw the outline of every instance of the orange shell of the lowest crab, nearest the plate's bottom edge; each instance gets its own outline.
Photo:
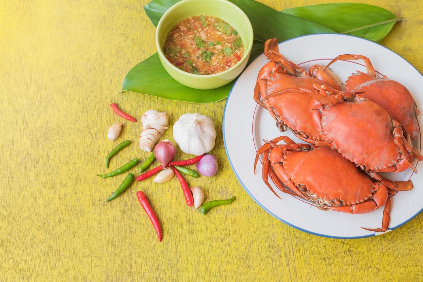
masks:
[[[273,149],[269,156],[271,163],[280,155],[280,150]],[[310,151],[287,151],[281,161],[292,182],[302,187],[303,193],[312,200],[317,198],[320,205],[361,203],[379,189],[354,163],[328,146]]]

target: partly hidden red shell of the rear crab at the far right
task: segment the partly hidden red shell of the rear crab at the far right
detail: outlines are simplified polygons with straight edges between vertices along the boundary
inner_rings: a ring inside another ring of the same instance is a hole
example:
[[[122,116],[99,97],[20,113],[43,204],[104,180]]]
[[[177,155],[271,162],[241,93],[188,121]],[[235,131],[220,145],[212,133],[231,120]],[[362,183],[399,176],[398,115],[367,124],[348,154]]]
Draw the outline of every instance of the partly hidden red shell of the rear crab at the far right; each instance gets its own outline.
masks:
[[[367,73],[357,71],[349,76],[345,91],[364,91],[360,96],[382,106],[394,119],[404,125],[413,140],[420,136],[417,122],[417,115],[420,112],[411,93],[401,83],[387,78],[376,79]]]

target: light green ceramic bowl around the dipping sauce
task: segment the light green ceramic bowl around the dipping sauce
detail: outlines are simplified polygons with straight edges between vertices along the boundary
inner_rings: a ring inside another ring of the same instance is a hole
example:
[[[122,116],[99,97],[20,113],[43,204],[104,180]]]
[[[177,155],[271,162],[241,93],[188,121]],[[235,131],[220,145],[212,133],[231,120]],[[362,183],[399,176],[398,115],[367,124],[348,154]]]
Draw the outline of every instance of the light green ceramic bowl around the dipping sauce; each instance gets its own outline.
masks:
[[[163,53],[163,43],[169,30],[181,20],[198,15],[215,16],[231,24],[241,36],[244,57],[232,68],[221,73],[201,75],[187,73],[176,68]],[[156,46],[160,61],[166,71],[180,83],[196,89],[213,89],[228,84],[245,68],[253,47],[253,27],[247,15],[233,3],[226,0],[182,0],[163,14],[157,24]]]

